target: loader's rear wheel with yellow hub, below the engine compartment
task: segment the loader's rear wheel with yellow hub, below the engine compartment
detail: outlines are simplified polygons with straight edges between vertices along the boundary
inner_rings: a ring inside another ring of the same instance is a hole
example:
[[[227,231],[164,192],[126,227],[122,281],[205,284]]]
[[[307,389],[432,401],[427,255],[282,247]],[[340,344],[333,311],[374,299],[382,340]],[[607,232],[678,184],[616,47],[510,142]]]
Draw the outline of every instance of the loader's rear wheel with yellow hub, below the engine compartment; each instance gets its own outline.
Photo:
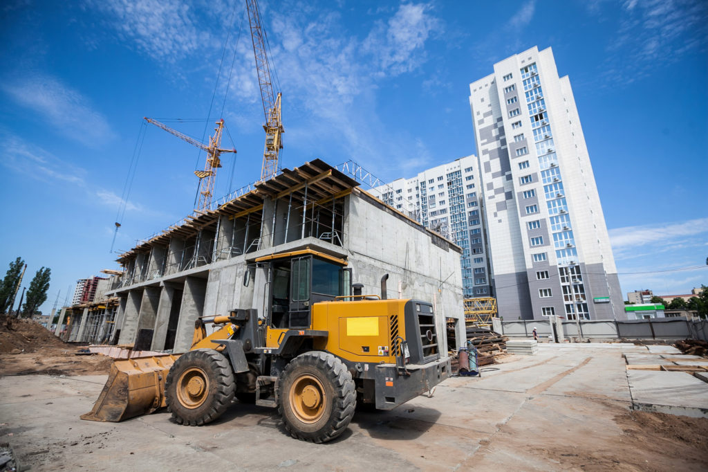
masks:
[[[336,356],[312,351],[285,367],[278,383],[278,412],[292,437],[328,442],[349,425],[356,408],[351,373]]]

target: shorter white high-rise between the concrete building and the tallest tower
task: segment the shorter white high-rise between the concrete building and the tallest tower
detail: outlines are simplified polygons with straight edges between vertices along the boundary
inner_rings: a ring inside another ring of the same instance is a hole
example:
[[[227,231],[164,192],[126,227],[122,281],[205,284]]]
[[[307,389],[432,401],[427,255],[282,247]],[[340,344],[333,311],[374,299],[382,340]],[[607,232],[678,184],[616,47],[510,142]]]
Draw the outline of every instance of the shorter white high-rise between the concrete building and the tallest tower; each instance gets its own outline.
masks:
[[[479,179],[477,158],[472,155],[375,189],[384,203],[462,247],[464,298],[491,293]],[[441,278],[449,275],[441,274]]]

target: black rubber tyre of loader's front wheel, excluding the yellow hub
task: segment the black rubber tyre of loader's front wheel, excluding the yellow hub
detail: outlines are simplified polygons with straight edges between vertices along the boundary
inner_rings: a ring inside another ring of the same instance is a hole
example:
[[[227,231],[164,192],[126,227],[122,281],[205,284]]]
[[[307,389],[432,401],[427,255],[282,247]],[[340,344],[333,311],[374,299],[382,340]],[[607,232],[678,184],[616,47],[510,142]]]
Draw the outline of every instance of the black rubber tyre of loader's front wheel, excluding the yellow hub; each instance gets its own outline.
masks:
[[[215,374],[215,384],[217,386],[214,398],[212,398],[210,408],[197,417],[184,417],[171,407],[173,401],[178,401],[172,398],[171,386],[175,381],[177,372],[184,364],[193,364],[196,360],[207,361],[210,364],[212,372]],[[167,411],[171,412],[173,420],[179,425],[186,426],[203,426],[214,420],[217,420],[224,411],[229,408],[229,405],[234,401],[234,371],[232,370],[229,359],[224,354],[215,351],[214,349],[195,349],[189,351],[177,359],[173,364],[167,378],[165,380],[165,402],[167,403]]]

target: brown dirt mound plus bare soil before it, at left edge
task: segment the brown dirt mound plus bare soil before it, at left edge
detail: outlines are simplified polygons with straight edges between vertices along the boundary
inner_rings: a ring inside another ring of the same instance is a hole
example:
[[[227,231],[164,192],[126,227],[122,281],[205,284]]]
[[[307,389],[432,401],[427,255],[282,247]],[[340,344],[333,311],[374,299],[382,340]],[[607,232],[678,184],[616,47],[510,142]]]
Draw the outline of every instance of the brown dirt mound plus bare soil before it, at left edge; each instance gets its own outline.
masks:
[[[82,355],[81,349],[63,342],[37,322],[0,315],[0,376],[108,373],[113,359],[101,354]]]

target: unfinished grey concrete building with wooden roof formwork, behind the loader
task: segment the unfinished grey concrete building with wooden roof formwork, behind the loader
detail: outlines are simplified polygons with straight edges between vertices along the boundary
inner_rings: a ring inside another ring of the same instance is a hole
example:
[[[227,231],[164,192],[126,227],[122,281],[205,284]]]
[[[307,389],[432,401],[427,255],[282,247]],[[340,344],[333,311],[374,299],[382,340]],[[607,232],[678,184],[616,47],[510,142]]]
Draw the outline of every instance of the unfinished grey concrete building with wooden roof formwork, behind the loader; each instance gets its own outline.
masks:
[[[389,298],[432,302],[438,332],[445,332],[446,318],[460,320],[462,339],[462,249],[360,189],[352,176],[319,159],[283,169],[144,240],[118,259],[122,275],[113,275],[104,297],[116,300],[115,312],[106,304],[95,307],[97,315],[113,316],[93,326],[91,307],[84,308],[81,316],[88,318],[77,320],[69,339],[89,341],[94,333],[90,340],[101,341],[113,322],[111,342],[183,352],[201,316],[255,308],[263,317],[265,307],[256,300],[263,300],[269,279],[256,259],[306,247],[346,259],[364,293],[378,294],[389,274]]]

